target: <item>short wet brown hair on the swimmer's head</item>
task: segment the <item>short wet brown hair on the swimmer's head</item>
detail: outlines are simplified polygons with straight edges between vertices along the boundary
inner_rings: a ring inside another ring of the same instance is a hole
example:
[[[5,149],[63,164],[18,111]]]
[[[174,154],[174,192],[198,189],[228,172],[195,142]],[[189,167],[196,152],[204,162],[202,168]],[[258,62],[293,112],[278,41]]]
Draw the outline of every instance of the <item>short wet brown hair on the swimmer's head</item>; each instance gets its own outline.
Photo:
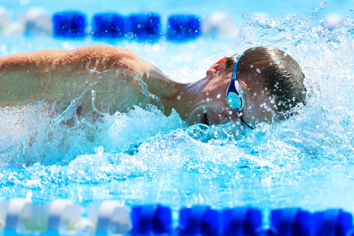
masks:
[[[226,59],[226,71],[232,72],[239,54]],[[264,84],[276,111],[289,110],[298,103],[305,103],[304,74],[297,62],[275,47],[254,47],[246,50],[239,61],[237,77],[247,81],[255,77]],[[260,91],[259,91],[260,92]]]

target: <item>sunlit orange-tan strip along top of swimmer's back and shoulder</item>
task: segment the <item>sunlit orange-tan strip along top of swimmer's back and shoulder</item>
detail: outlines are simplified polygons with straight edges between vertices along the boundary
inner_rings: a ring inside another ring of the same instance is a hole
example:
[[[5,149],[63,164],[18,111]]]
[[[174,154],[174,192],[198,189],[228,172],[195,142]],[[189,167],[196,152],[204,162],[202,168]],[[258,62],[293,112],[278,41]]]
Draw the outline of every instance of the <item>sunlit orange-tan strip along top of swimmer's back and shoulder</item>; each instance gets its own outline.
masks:
[[[72,50],[45,49],[33,52],[14,53],[0,57],[0,71],[7,69],[26,69],[70,67],[79,69],[129,69],[135,73],[146,71],[146,61],[125,47],[110,45],[90,45]]]

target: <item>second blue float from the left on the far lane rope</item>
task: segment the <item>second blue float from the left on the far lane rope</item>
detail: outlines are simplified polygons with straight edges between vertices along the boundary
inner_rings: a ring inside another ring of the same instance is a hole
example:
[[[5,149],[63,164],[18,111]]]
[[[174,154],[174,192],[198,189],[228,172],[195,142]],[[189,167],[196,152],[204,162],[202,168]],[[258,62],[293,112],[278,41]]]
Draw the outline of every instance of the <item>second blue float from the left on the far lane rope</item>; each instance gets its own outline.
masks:
[[[126,20],[116,13],[98,13],[92,18],[92,37],[115,39],[124,37]]]

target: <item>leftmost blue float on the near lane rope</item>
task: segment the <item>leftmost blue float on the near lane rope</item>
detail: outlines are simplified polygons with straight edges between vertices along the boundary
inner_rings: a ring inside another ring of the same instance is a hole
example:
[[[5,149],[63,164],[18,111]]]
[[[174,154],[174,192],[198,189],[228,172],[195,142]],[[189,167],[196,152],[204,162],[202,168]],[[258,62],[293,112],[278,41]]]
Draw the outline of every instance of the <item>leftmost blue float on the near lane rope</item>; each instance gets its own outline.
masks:
[[[135,236],[169,234],[172,230],[171,209],[162,205],[135,206],[131,212]]]

